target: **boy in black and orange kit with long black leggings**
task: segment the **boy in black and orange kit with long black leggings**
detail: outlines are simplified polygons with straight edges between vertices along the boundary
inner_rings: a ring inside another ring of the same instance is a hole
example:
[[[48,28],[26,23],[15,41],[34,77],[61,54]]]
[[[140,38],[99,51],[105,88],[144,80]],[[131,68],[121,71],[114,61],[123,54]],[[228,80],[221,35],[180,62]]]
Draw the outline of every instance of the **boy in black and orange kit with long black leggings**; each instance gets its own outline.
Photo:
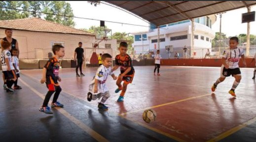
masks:
[[[41,84],[46,83],[48,88],[48,92],[45,95],[43,105],[39,108],[40,112],[45,114],[52,114],[50,108],[48,107],[49,100],[51,95],[54,93],[54,97],[51,103],[51,107],[63,107],[64,105],[60,102],[57,102],[59,94],[61,92],[61,87],[58,84],[58,81],[61,82],[61,78],[59,77],[59,68],[60,62],[59,58],[65,56],[64,47],[62,45],[54,45],[52,46],[52,51],[54,57],[50,58],[47,63],[43,67]]]

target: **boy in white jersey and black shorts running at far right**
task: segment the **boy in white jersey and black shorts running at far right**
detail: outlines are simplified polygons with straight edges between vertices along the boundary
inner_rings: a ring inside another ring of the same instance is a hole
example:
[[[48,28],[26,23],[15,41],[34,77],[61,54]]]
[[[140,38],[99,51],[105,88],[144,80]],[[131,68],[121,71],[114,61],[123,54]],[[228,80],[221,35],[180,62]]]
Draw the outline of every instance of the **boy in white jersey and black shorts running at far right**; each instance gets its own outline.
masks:
[[[212,91],[216,90],[219,83],[223,82],[226,77],[232,75],[235,78],[232,88],[229,90],[229,94],[236,97],[235,89],[241,81],[241,71],[238,66],[240,57],[246,67],[245,55],[242,48],[238,48],[238,38],[231,37],[229,39],[229,49],[225,50],[222,55],[222,66],[220,72],[220,78],[212,86]]]

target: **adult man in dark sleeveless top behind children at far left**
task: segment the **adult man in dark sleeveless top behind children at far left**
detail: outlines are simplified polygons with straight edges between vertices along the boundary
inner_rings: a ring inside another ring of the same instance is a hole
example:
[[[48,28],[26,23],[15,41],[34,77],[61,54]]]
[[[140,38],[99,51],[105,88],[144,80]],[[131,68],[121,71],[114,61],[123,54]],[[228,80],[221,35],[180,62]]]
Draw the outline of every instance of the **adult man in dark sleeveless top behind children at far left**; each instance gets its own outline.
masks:
[[[2,38],[1,41],[4,40],[4,41],[8,41],[9,43],[11,43],[11,51],[10,51],[11,56],[12,56],[12,50],[13,49],[18,49],[18,56],[17,57],[19,57],[19,54],[20,54],[19,44],[18,44],[18,41],[16,39],[12,38],[12,29],[11,28],[6,28],[4,33],[5,33],[6,36],[4,38]],[[3,88],[5,89],[7,85],[6,85],[6,80],[4,79],[3,74],[2,74],[2,79],[3,79]]]

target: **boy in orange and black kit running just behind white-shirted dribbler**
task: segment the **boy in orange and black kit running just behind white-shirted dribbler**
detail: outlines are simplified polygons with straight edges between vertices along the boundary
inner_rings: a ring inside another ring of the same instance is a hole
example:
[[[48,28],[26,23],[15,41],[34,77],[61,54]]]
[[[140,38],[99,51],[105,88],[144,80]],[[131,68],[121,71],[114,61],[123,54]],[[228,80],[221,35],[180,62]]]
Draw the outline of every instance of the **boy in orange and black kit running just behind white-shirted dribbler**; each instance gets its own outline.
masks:
[[[135,71],[132,65],[132,59],[128,54],[126,54],[127,48],[128,48],[128,44],[126,42],[121,42],[119,44],[120,54],[118,54],[115,57],[115,66],[112,69],[112,71],[114,71],[118,69],[118,67],[120,66],[120,70],[121,70],[121,73],[118,76],[118,79],[116,81],[116,85],[118,86],[118,88],[115,90],[115,93],[118,93],[120,90],[122,90],[122,92],[117,102],[123,102],[127,85],[132,83],[133,77],[135,74]],[[121,85],[122,81],[124,81],[123,85]]]

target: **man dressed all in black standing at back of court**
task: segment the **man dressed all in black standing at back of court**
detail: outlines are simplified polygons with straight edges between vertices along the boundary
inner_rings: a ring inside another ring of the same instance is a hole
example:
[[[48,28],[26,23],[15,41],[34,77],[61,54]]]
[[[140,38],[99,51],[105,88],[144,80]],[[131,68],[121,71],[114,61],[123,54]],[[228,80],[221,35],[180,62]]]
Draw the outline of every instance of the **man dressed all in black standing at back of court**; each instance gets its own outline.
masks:
[[[75,68],[75,72],[76,72],[76,77],[80,77],[80,76],[84,76],[84,74],[82,73],[82,64],[84,61],[84,55],[83,55],[83,48],[82,48],[82,42],[78,43],[78,46],[75,51],[74,51],[74,61],[76,61],[77,59],[77,64],[76,64],[76,68]],[[76,57],[75,57],[76,55]],[[78,68],[80,69],[80,75],[78,74]]]

